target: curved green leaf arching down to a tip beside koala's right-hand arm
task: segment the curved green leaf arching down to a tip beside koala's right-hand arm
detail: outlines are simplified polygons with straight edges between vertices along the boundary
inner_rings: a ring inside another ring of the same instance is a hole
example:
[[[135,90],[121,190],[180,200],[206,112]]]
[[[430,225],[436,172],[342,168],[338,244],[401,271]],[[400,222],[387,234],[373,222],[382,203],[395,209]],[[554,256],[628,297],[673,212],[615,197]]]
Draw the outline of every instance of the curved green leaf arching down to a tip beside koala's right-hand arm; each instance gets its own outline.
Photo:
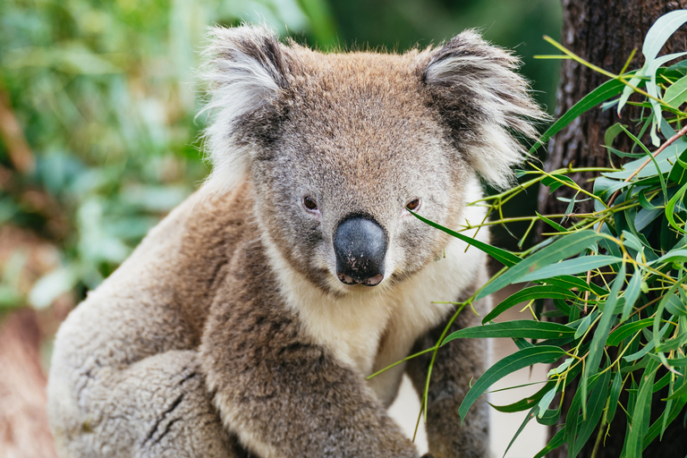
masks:
[[[462,420],[465,420],[471,406],[481,394],[487,391],[489,386],[494,385],[498,380],[513,373],[516,370],[527,368],[533,364],[552,364],[559,360],[565,352],[553,345],[542,345],[525,348],[506,356],[499,360],[491,368],[479,377],[477,382],[471,387],[470,391],[465,394],[461,406],[458,408],[458,414]]]

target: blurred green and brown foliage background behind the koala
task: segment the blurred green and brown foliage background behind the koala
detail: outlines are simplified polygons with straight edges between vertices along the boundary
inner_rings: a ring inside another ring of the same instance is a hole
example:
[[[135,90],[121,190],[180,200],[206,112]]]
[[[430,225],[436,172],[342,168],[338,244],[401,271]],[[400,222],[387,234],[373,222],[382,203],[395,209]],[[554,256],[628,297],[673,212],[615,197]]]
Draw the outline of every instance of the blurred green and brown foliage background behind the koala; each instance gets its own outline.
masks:
[[[194,75],[208,25],[398,52],[478,28],[553,113],[557,63],[533,55],[552,54],[541,37],[560,15],[556,0],[0,0],[0,437],[20,434],[26,403],[44,415],[31,384],[61,320],[208,174]]]

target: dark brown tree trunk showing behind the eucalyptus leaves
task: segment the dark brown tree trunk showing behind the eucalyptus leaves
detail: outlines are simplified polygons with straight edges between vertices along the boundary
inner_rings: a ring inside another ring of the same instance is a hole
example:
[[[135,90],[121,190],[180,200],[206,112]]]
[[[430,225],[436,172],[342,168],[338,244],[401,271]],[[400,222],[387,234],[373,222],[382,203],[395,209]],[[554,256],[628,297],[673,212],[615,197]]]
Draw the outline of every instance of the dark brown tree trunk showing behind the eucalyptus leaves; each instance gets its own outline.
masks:
[[[665,13],[687,7],[687,0],[562,0],[563,2],[563,32],[561,34],[564,47],[580,55],[592,64],[596,64],[610,72],[621,72],[632,49],[637,48],[629,70],[639,68],[643,64],[640,53],[644,36],[657,18]],[[668,41],[663,54],[687,49],[687,33],[679,31]],[[572,60],[564,60],[561,67],[561,80],[556,95],[556,118],[564,114],[576,102],[597,88],[607,78],[597,72],[589,70]],[[615,110],[601,111],[592,109],[583,114],[564,131],[559,132],[548,148],[548,158],[545,165],[547,171],[573,165],[577,167],[608,166],[609,158],[604,143],[606,129],[617,122],[632,123],[639,112],[632,106],[623,108],[623,117],[618,119]],[[614,148],[628,151],[632,148],[631,140],[625,136],[618,136]],[[575,182],[586,182],[591,175],[578,174],[571,176]],[[587,185],[590,191],[590,183]],[[561,190],[562,192],[563,189]],[[556,195],[564,195],[557,194]],[[567,197],[571,197],[569,194]],[[544,186],[539,190],[539,213],[564,213],[567,203],[551,196]],[[591,201],[581,202],[575,212],[591,211]],[[542,227],[539,228],[542,230]],[[562,419],[565,419],[570,403],[575,393],[574,386],[565,391]],[[655,403],[660,403],[660,395],[654,397]],[[665,394],[664,396],[665,397]],[[652,409],[656,411],[656,409]],[[653,419],[652,419],[653,420]],[[644,456],[661,456],[665,458],[682,457],[687,452],[687,430],[683,428],[683,416],[668,428],[663,441],[655,440],[644,453]],[[559,429],[555,426],[549,429],[549,439]],[[617,458],[623,450],[626,434],[627,419],[623,411],[618,409],[611,424],[608,435],[599,444],[596,458]],[[580,457],[589,457],[594,448],[597,433],[582,449]],[[556,449],[548,458],[567,457],[567,446]]]

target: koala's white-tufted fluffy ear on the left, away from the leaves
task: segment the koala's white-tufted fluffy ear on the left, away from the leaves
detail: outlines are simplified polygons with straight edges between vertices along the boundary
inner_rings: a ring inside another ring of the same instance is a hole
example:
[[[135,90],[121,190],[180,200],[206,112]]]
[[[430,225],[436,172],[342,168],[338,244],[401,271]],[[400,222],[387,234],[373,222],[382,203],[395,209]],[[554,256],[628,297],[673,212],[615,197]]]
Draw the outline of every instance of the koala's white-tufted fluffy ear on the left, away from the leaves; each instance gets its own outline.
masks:
[[[201,72],[208,84],[203,112],[211,117],[204,133],[213,165],[206,187],[225,191],[248,173],[250,138],[265,134],[279,95],[288,87],[293,60],[290,48],[266,27],[216,27],[210,38]]]

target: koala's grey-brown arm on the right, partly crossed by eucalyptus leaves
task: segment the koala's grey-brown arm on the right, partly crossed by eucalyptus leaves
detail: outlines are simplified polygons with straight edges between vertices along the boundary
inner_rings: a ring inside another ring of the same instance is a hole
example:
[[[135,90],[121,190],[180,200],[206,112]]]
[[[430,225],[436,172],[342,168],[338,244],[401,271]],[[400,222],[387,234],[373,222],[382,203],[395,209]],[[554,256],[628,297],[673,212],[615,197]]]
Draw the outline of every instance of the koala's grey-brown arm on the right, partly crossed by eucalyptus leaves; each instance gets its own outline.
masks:
[[[476,304],[477,310],[488,309],[489,299]],[[453,314],[451,314],[453,316]],[[449,316],[448,318],[451,318]],[[437,344],[448,321],[420,338],[413,352],[420,352]],[[479,325],[469,308],[455,319],[449,333],[463,327]],[[406,371],[418,393],[423,393],[431,353],[408,362]],[[427,438],[429,454],[434,458],[486,458],[489,456],[488,404],[480,397],[473,404],[461,425],[458,407],[488,362],[488,343],[479,339],[456,339],[437,352],[429,382]]]

